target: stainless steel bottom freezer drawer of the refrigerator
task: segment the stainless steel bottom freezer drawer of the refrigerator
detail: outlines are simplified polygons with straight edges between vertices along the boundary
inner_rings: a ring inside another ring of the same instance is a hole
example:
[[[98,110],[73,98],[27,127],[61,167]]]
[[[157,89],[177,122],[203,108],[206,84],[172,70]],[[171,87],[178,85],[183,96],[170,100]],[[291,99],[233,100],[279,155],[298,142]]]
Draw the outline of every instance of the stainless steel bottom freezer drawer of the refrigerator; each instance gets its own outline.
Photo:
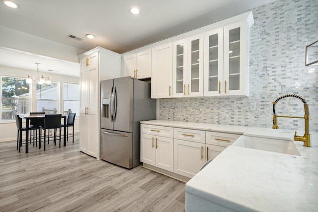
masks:
[[[100,158],[133,168],[133,133],[100,130]]]

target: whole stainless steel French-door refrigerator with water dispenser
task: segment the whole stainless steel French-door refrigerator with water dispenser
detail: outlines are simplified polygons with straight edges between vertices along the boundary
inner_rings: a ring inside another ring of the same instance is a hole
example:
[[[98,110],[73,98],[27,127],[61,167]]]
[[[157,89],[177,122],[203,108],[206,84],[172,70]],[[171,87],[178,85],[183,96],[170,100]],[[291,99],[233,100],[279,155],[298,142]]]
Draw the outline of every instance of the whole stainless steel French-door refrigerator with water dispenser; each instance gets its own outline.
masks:
[[[140,121],[156,119],[151,84],[130,76],[100,82],[100,158],[133,168],[140,162]]]

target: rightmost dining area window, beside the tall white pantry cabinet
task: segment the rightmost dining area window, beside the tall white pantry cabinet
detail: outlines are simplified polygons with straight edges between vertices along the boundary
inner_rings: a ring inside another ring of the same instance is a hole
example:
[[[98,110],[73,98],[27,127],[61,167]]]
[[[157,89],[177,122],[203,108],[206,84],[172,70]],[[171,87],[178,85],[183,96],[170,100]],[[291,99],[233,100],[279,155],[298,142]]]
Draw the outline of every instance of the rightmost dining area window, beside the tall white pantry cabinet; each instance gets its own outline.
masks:
[[[79,117],[79,93],[79,84],[63,83],[64,115],[72,112]]]

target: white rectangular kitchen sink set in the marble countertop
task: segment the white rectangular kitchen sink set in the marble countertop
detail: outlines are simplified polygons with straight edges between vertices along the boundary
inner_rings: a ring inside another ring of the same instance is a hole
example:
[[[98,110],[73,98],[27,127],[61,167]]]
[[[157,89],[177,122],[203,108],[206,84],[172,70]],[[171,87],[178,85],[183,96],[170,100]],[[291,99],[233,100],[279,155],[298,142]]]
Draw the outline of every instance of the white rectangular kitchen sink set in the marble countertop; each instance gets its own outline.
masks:
[[[295,143],[288,140],[241,136],[232,145],[284,154],[301,155]]]

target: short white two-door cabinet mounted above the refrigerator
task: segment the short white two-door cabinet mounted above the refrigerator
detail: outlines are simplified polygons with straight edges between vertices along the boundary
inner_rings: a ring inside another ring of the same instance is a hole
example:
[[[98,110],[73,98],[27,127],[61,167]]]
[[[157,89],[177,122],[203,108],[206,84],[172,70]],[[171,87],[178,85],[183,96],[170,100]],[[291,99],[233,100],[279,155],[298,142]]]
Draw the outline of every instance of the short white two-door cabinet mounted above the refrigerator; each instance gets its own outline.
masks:
[[[138,79],[151,77],[151,49],[124,56],[124,74]]]

